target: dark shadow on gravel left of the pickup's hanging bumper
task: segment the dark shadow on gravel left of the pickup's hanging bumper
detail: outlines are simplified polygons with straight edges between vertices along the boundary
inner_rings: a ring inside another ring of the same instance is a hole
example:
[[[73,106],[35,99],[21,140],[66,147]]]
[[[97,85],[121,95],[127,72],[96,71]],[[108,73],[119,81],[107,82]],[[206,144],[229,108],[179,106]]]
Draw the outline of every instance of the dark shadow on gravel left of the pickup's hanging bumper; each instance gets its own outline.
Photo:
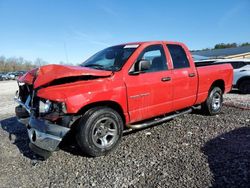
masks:
[[[19,123],[15,117],[10,117],[0,122],[1,128],[9,135],[9,140],[17,146],[20,153],[31,160],[43,160],[29,148],[29,138],[26,127]]]

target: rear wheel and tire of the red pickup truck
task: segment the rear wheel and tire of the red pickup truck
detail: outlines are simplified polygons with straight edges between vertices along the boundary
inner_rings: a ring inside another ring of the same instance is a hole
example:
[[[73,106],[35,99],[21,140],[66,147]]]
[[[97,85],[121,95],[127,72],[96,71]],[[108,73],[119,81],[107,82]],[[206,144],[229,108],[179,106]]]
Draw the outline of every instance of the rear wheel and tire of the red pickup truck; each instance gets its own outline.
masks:
[[[223,102],[222,90],[214,87],[210,90],[207,100],[201,105],[206,115],[216,115],[220,113]]]

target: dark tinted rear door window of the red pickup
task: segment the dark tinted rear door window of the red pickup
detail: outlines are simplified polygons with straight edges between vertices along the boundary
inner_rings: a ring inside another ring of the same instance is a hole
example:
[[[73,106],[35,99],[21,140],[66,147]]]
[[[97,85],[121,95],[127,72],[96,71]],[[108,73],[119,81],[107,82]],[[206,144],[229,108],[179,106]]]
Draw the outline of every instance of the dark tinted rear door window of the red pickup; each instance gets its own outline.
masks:
[[[167,48],[170,52],[174,69],[190,67],[187,54],[182,46],[177,44],[167,44]]]

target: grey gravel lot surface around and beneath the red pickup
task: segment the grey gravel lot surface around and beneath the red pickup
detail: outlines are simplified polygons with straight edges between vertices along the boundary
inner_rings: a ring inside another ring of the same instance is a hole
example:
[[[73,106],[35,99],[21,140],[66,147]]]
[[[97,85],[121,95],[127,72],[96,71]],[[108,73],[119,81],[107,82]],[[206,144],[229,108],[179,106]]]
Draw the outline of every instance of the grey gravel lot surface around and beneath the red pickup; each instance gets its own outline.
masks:
[[[214,117],[193,113],[128,134],[108,156],[81,156],[72,139],[42,161],[14,117],[16,83],[0,82],[0,88],[0,187],[250,185],[249,95],[227,94]]]

